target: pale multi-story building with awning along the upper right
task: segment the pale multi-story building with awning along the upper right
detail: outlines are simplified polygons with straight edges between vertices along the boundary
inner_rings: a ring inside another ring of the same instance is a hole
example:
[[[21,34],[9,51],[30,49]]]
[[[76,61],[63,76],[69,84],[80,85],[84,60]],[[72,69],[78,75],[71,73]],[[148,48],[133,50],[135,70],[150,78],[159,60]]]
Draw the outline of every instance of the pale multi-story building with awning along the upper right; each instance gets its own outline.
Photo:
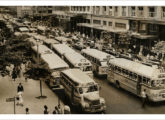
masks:
[[[90,10],[85,12],[89,7]],[[102,31],[114,36],[129,32],[132,41],[152,46],[157,40],[165,40],[165,7],[161,6],[71,6],[70,12],[82,15],[88,22],[78,26],[91,30],[100,37]],[[85,14],[86,13],[86,14]],[[144,42],[146,41],[146,42]]]

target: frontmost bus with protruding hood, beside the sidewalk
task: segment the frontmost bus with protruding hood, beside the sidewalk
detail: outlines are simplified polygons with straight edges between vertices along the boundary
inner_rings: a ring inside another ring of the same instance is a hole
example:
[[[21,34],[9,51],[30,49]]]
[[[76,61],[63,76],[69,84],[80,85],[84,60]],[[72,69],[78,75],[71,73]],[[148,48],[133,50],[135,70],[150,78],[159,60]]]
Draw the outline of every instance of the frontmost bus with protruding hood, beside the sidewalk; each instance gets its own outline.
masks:
[[[61,72],[61,83],[71,103],[83,112],[96,113],[106,109],[104,98],[99,95],[98,84],[79,69]]]

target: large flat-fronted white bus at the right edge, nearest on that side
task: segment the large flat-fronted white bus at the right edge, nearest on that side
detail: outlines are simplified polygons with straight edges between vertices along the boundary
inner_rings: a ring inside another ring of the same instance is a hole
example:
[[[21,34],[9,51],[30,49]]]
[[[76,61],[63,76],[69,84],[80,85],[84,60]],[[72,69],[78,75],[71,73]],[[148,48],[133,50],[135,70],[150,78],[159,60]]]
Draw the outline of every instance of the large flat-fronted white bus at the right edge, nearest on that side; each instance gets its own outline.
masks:
[[[155,66],[147,66],[124,58],[109,61],[107,80],[131,93],[141,96],[146,90],[151,101],[165,100],[165,72]]]

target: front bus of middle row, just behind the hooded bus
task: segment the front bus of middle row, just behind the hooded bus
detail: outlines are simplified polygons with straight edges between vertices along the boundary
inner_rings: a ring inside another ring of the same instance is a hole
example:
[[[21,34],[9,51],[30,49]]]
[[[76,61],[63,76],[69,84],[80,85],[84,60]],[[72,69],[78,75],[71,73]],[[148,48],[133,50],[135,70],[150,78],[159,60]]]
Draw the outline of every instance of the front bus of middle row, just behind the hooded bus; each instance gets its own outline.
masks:
[[[79,68],[91,77],[93,76],[91,62],[87,60],[84,56],[82,56],[80,53],[65,53],[64,60],[69,64],[71,68]]]

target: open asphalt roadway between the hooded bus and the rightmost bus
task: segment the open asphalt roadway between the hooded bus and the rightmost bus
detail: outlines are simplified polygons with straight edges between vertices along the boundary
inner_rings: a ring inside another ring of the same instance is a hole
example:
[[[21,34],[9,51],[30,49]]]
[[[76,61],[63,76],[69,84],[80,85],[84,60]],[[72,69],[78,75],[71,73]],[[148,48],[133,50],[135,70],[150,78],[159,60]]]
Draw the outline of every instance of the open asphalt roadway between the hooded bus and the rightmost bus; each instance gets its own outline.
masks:
[[[77,52],[80,52],[76,50]],[[164,114],[165,102],[153,103],[147,101],[145,108],[136,95],[116,88],[110,84],[106,77],[94,77],[94,80],[101,86],[100,96],[106,101],[106,114]],[[74,111],[74,113],[78,113]]]

